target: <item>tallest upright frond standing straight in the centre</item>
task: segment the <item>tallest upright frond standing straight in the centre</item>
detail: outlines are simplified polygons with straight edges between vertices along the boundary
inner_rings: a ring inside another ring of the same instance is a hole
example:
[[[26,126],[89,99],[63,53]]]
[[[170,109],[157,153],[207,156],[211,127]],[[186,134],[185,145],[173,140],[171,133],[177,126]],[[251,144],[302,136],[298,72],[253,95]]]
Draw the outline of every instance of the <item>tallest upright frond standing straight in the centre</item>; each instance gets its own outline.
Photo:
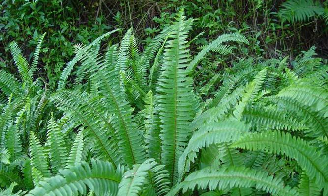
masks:
[[[188,123],[192,120],[192,79],[188,77],[190,55],[186,49],[188,28],[183,11],[168,35],[164,50],[164,64],[158,79],[159,115],[161,120],[162,161],[172,182],[178,177],[178,160],[190,136]]]

